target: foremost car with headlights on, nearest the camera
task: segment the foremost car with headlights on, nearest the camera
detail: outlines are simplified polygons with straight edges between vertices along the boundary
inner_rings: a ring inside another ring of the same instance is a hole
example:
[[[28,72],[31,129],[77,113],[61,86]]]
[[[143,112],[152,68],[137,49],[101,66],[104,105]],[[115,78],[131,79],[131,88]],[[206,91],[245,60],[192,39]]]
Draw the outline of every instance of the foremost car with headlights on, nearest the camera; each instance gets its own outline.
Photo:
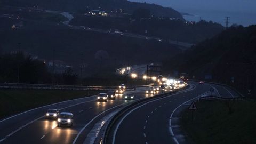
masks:
[[[74,115],[72,113],[61,112],[58,117],[57,126],[58,127],[61,127],[61,126],[71,127],[71,126],[73,126],[73,118],[74,118]]]

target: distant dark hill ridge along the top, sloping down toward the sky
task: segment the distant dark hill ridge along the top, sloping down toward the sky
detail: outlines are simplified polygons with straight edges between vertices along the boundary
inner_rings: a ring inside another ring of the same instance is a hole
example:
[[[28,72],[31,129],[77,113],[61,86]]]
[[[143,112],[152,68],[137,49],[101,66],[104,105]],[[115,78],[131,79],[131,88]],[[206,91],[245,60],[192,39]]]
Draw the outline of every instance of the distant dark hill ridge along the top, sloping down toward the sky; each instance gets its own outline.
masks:
[[[105,10],[105,11],[119,11],[125,13],[132,13],[138,8],[149,9],[153,15],[161,17],[179,18],[183,20],[182,15],[171,9],[156,4],[146,4],[129,2],[127,0],[1,0],[4,5],[13,6],[29,6],[39,7],[42,9],[68,11],[68,12],[87,12],[89,10]],[[100,8],[99,8],[100,7]]]

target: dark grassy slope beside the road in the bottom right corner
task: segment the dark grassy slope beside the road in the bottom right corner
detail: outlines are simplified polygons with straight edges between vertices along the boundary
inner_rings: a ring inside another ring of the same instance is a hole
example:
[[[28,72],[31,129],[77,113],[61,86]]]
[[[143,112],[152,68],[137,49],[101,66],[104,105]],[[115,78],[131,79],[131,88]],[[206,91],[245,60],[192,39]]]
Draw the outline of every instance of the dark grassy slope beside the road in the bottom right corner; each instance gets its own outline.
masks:
[[[256,103],[201,101],[185,110],[181,125],[195,143],[256,143]],[[192,115],[194,121],[192,120]]]

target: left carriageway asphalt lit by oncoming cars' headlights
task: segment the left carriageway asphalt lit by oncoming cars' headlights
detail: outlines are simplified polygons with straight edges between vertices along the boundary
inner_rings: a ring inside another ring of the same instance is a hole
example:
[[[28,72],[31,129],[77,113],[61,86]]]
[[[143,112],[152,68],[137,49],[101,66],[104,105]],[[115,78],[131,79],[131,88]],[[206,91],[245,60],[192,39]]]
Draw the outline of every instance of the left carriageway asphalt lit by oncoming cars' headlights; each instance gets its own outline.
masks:
[[[137,91],[127,91],[127,93],[134,93],[133,101],[136,101],[147,98],[146,89],[148,87],[141,87],[137,88]],[[100,118],[133,102],[119,96],[116,100],[109,100],[107,103],[96,100],[97,96],[92,96],[65,101],[0,119],[0,143],[73,143],[78,133],[84,129],[77,139],[77,143],[82,143],[87,132]],[[73,113],[75,115],[73,127],[58,128],[57,121],[46,120],[44,115],[49,108]]]

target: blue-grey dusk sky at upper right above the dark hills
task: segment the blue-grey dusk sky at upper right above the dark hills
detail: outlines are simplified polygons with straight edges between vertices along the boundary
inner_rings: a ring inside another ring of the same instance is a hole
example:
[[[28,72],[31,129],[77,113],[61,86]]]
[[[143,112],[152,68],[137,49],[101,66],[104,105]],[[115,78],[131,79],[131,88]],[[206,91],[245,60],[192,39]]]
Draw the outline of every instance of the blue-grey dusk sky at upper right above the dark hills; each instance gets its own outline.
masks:
[[[224,22],[225,17],[230,17],[230,23],[244,26],[256,23],[255,0],[130,0],[134,2],[147,2],[172,7],[179,12],[197,15],[205,20]]]

